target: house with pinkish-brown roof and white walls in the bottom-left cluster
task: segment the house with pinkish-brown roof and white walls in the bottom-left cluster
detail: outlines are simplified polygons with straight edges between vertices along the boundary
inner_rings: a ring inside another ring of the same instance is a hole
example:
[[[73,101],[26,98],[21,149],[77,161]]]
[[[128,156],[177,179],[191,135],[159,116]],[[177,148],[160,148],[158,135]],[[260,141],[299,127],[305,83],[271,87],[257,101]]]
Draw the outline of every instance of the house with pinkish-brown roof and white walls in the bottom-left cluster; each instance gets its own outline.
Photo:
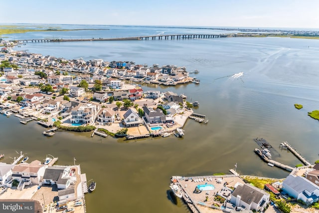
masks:
[[[12,168],[12,179],[38,185],[44,175],[45,168],[46,165],[37,160],[29,164],[18,164]]]

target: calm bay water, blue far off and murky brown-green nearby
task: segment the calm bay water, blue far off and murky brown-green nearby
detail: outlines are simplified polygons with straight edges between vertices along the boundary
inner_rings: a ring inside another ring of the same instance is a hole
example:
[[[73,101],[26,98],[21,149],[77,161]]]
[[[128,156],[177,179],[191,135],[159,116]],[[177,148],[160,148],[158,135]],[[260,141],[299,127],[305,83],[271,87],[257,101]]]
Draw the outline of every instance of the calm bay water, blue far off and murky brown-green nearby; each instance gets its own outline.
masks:
[[[105,28],[109,30],[8,36],[73,38],[203,32],[164,27]],[[144,90],[184,93],[190,102],[199,101],[194,111],[205,114],[209,123],[187,121],[183,139],[171,136],[123,141],[69,132],[47,138],[41,134],[43,128],[34,122],[22,125],[14,116],[0,116],[0,152],[6,156],[14,157],[15,151],[23,151],[30,160],[42,160],[51,154],[59,157],[60,165],[73,164],[76,158],[88,180],[97,182],[94,193],[86,196],[89,213],[185,213],[185,205],[175,205],[169,197],[169,177],[227,173],[235,163],[241,174],[286,177],[287,172],[267,166],[253,152],[257,147],[255,137],[267,139],[276,149],[274,159],[282,163],[300,163],[291,153],[279,149],[282,141],[288,141],[311,162],[319,159],[319,122],[307,116],[307,112],[319,108],[319,40],[264,37],[61,42],[28,43],[15,49],[66,59],[129,60],[199,70],[192,76],[200,79],[200,84],[143,86]],[[238,72],[244,72],[244,76],[229,77]],[[295,109],[295,103],[304,108]]]

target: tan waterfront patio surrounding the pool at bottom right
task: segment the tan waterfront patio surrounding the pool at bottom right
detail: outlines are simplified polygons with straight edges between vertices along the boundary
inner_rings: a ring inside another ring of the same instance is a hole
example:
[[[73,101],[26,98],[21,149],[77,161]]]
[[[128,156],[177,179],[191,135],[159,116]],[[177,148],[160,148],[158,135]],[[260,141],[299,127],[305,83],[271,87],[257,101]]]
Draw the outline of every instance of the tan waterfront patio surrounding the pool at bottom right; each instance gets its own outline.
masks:
[[[210,181],[210,179],[212,180]],[[177,178],[176,180],[180,189],[182,189],[183,200],[194,213],[213,213],[216,211],[221,212],[220,210],[211,208],[213,204],[222,206],[222,204],[214,201],[215,195],[220,195],[226,199],[230,199],[230,188],[234,187],[237,183],[245,184],[244,181],[236,175],[182,177]],[[202,181],[195,182],[194,180]],[[201,191],[198,193],[195,191],[197,185],[205,185],[206,183],[213,185],[215,189]],[[206,196],[208,197],[208,201],[205,202]]]

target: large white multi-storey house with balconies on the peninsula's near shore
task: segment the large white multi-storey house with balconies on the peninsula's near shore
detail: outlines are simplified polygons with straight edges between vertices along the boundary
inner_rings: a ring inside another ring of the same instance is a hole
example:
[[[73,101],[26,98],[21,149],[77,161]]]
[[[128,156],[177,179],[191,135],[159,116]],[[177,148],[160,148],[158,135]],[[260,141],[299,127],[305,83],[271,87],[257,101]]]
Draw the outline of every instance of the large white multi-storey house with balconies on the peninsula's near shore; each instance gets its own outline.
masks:
[[[97,108],[94,104],[78,105],[71,109],[71,123],[93,123],[96,117]]]

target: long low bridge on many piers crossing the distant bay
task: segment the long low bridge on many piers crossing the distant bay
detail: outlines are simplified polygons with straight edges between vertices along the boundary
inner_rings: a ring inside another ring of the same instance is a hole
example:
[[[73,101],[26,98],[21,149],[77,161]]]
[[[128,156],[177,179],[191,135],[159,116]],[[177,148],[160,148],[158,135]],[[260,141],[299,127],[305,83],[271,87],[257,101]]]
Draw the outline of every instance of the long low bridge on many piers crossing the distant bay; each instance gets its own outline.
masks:
[[[115,41],[115,40],[173,40],[173,39],[196,39],[196,38],[221,38],[227,37],[225,34],[161,34],[161,35],[146,35],[136,37],[123,37],[123,38],[79,38],[79,39],[63,39],[63,38],[43,38],[43,39],[23,39],[23,40],[10,40],[13,42],[63,42],[63,41]]]

